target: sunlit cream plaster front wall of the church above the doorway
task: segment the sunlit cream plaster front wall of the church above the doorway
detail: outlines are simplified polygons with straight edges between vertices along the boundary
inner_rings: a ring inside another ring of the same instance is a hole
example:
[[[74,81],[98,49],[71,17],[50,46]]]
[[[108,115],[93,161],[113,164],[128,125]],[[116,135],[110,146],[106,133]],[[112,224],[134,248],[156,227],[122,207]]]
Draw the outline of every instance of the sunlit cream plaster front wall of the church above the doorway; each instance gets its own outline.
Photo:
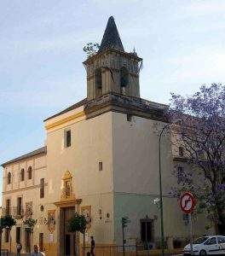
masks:
[[[69,148],[65,148],[65,129],[71,130]],[[62,177],[66,171],[71,172],[75,197],[83,200],[81,206],[91,206],[93,235],[98,243],[113,241],[112,140],[112,113],[71,120],[47,131],[49,201],[61,200]],[[100,161],[102,171],[99,171]],[[102,212],[110,213],[110,223],[104,223],[105,218],[99,220],[100,207]]]

